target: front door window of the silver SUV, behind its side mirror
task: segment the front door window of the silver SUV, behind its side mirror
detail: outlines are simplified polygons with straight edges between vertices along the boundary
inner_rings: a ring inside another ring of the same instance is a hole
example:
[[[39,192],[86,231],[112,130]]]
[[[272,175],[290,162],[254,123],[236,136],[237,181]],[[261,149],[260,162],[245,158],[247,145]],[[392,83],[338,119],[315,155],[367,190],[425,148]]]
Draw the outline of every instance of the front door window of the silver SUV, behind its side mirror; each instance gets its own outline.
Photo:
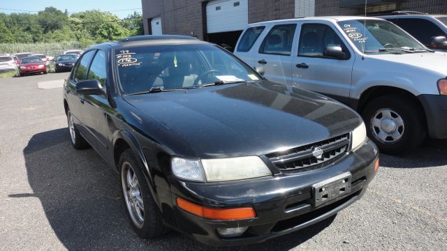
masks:
[[[325,47],[339,46],[349,54],[337,33],[326,24],[303,24],[301,27],[298,56],[324,57]]]

